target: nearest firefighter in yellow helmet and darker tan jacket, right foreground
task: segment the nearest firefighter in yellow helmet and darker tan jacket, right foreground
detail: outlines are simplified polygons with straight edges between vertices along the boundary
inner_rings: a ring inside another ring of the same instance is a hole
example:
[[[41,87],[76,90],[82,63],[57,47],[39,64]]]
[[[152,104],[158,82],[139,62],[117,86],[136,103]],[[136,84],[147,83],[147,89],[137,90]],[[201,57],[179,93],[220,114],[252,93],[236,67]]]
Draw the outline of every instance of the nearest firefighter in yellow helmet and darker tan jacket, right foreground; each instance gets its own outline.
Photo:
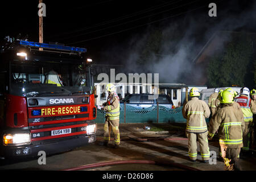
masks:
[[[245,130],[245,122],[242,111],[233,107],[233,102],[232,93],[228,91],[220,93],[220,108],[209,124],[208,139],[211,140],[218,130],[224,169],[241,171],[238,156],[243,147],[242,133]]]

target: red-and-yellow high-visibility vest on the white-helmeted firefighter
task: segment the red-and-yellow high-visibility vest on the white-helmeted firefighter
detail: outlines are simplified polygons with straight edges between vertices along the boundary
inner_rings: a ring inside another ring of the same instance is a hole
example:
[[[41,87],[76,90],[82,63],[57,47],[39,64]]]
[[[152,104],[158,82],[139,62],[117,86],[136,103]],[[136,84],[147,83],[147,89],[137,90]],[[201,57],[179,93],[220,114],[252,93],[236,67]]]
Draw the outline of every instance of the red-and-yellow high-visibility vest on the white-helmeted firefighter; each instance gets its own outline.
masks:
[[[243,119],[245,122],[253,122],[253,113],[251,112],[251,99],[246,96],[240,96],[235,99],[240,105],[243,112]]]

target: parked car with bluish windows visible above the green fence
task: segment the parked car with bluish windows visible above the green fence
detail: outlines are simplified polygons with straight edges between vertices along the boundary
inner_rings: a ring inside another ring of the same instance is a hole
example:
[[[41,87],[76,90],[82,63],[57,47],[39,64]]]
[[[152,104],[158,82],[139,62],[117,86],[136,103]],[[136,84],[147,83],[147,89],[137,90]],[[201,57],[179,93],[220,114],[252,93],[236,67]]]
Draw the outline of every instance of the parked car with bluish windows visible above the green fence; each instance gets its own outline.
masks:
[[[168,109],[174,109],[174,103],[171,98],[164,94],[159,94],[157,99],[149,100],[148,96],[154,96],[153,94],[129,94],[120,102],[126,105],[136,107],[138,109],[146,109],[151,106],[156,106],[158,102],[159,106],[167,107]]]

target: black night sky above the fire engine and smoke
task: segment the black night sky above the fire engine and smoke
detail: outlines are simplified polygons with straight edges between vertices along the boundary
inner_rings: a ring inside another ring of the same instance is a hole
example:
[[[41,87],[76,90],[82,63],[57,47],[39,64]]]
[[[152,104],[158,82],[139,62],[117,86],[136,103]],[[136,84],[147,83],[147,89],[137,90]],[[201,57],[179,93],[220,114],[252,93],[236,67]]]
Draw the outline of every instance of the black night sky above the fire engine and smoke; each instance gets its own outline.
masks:
[[[209,29],[228,16],[240,16],[251,10],[253,1],[49,1],[44,17],[44,43],[58,42],[68,46],[85,47],[96,63],[116,64],[120,60],[108,59],[106,52],[125,52],[134,36],[145,34],[149,27],[165,28],[184,19],[204,19],[196,22]],[[209,3],[217,5],[217,17],[208,16]],[[1,1],[1,40],[6,36],[28,34],[30,41],[38,42],[38,1]],[[206,22],[206,23],[205,23]],[[197,24],[195,24],[197,26]],[[185,26],[181,31],[184,30]],[[221,27],[223,28],[223,27]],[[255,21],[246,23],[236,31],[255,31]],[[232,30],[234,31],[234,30]],[[202,40],[205,41],[205,40]],[[117,47],[116,51],[113,47]],[[200,49],[200,47],[199,47]],[[111,51],[110,51],[111,50]],[[125,61],[124,60],[121,60]]]

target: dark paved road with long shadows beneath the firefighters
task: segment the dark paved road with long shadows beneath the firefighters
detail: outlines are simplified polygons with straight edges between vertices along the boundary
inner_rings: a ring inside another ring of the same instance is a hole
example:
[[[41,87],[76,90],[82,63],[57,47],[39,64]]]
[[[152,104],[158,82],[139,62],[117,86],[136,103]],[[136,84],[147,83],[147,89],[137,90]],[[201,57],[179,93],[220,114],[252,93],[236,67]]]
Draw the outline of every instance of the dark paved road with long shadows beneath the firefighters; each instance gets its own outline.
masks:
[[[152,137],[153,135],[147,135]],[[163,137],[163,135],[157,135]],[[0,169],[19,169],[19,170],[61,170],[68,169],[85,164],[100,162],[110,162],[114,160],[164,160],[184,164],[201,170],[223,170],[223,162],[217,161],[217,164],[203,164],[198,160],[192,163],[188,160],[187,140],[151,140],[150,142],[138,142],[131,138],[146,137],[146,135],[129,135],[122,137],[121,147],[118,149],[103,147],[99,145],[102,138],[98,137],[95,143],[88,146],[76,148],[75,150],[64,152],[62,154],[47,156],[46,165],[38,164],[38,159],[24,162],[9,162],[2,160]],[[156,135],[154,135],[156,137]],[[113,141],[112,141],[113,142]],[[199,148],[199,147],[198,147]],[[210,146],[210,150],[217,151],[217,147]],[[200,159],[200,155],[198,155]],[[253,160],[241,160],[242,167],[245,170],[256,170],[255,158]],[[86,170],[181,170],[172,166],[156,166],[152,164],[122,164],[117,166],[106,166]]]

